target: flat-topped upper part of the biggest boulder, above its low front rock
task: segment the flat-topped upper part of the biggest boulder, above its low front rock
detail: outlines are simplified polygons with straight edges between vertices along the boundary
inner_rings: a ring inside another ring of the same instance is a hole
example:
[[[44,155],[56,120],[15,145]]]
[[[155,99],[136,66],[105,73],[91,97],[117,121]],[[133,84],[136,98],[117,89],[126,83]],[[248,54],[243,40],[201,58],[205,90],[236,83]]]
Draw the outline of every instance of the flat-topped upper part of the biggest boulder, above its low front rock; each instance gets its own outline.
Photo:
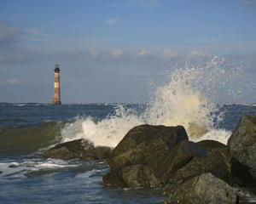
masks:
[[[108,165],[112,170],[131,164],[149,164],[158,169],[172,147],[183,139],[188,140],[188,135],[182,126],[133,127],[113,149]]]

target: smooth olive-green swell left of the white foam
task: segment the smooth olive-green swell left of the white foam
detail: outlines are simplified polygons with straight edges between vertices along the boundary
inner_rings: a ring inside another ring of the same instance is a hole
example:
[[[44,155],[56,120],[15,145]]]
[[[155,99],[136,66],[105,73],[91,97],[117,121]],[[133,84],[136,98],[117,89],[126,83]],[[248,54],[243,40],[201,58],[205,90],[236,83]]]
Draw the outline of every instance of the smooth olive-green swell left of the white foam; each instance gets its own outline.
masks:
[[[0,128],[0,154],[30,154],[61,141],[63,122],[39,122],[32,125]]]

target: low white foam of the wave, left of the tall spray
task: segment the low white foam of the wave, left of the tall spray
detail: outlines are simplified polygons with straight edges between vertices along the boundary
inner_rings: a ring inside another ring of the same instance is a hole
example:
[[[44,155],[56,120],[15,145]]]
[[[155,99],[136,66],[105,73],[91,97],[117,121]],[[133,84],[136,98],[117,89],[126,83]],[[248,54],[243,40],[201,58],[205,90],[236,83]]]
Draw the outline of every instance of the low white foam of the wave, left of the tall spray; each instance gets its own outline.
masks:
[[[145,122],[132,110],[119,105],[113,116],[101,122],[94,122],[91,117],[78,118],[61,130],[62,141],[89,139],[96,146],[115,147],[128,131]]]

